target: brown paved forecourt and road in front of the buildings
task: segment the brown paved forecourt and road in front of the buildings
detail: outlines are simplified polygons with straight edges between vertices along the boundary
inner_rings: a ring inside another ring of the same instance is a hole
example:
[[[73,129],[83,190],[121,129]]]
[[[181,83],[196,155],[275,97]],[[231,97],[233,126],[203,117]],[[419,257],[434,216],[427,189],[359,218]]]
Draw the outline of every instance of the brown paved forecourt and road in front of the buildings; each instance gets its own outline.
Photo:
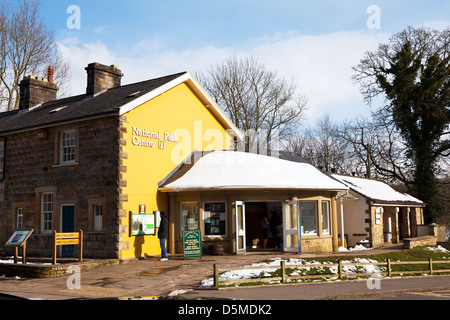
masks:
[[[367,255],[402,250],[390,246],[330,255]],[[50,279],[0,278],[0,294],[4,299],[20,297],[31,300],[69,299],[127,299],[136,297],[164,299],[170,293],[184,292],[177,299],[243,299],[243,300],[330,300],[358,299],[366,296],[400,292],[450,290],[450,276],[423,276],[406,279],[383,279],[379,286],[367,280],[333,283],[272,285],[233,289],[199,289],[202,280],[212,278],[213,266],[232,269],[273,258],[310,258],[319,254],[286,254],[281,252],[252,252],[243,255],[204,255],[183,260],[169,255],[168,261],[147,257],[83,271],[74,280],[71,275]],[[74,287],[78,281],[79,287]],[[379,287],[379,289],[377,289]],[[181,291],[179,291],[181,290]],[[10,296],[6,296],[10,295]],[[0,295],[0,299],[2,299]]]

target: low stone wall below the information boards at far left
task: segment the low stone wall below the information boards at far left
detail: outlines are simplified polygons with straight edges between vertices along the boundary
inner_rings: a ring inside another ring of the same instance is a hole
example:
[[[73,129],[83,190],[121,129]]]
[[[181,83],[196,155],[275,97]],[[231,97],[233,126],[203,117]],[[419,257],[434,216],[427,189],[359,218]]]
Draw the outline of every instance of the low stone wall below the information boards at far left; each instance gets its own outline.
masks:
[[[119,264],[119,259],[88,260],[85,262],[64,262],[56,265],[33,264],[10,264],[0,263],[0,276],[21,278],[58,278],[67,275],[70,266],[78,266],[80,271],[88,271],[97,267]]]

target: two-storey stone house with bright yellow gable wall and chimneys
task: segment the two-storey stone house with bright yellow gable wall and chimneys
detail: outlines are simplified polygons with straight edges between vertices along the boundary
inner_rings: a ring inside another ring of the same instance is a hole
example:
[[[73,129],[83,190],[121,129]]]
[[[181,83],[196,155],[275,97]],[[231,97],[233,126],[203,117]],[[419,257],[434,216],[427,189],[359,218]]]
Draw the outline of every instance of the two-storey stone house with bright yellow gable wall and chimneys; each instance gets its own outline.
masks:
[[[26,77],[20,108],[0,113],[0,243],[34,229],[28,254],[50,256],[53,230],[82,229],[85,257],[156,254],[154,229],[132,234],[133,214],[168,210],[157,182],[192,152],[194,130],[200,144],[208,130],[223,134],[206,142],[226,149],[237,129],[190,73],[121,85],[116,66],[86,71],[86,93],[64,99],[51,68],[48,79]]]

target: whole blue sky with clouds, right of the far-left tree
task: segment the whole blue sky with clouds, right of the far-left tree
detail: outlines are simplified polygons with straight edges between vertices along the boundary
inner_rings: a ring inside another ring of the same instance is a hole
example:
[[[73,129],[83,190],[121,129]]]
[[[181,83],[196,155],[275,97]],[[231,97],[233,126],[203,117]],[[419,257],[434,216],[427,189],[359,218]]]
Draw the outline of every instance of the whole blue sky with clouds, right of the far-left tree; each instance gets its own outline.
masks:
[[[80,8],[80,29],[67,26],[71,5]],[[380,10],[377,29],[367,26],[371,5]],[[309,120],[341,121],[369,110],[351,66],[409,25],[450,25],[450,1],[42,0],[42,16],[71,63],[72,94],[84,90],[84,67],[94,61],[117,65],[126,84],[253,55],[294,79]]]

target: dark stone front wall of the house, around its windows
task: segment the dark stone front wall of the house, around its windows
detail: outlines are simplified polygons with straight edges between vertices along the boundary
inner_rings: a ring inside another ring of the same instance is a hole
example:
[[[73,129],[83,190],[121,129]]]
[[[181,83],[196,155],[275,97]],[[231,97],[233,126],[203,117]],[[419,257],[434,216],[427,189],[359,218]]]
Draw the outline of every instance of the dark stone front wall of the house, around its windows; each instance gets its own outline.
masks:
[[[20,207],[24,212],[23,227],[35,229],[27,242],[28,255],[51,255],[52,236],[41,233],[40,196],[52,192],[55,230],[60,230],[61,205],[74,205],[75,231],[84,231],[84,257],[118,257],[118,123],[116,117],[105,117],[8,136],[6,210],[0,210],[2,243],[16,229],[15,210]],[[59,136],[68,129],[77,132],[76,161],[60,164]],[[89,219],[91,199],[103,199],[101,232],[93,231]]]

